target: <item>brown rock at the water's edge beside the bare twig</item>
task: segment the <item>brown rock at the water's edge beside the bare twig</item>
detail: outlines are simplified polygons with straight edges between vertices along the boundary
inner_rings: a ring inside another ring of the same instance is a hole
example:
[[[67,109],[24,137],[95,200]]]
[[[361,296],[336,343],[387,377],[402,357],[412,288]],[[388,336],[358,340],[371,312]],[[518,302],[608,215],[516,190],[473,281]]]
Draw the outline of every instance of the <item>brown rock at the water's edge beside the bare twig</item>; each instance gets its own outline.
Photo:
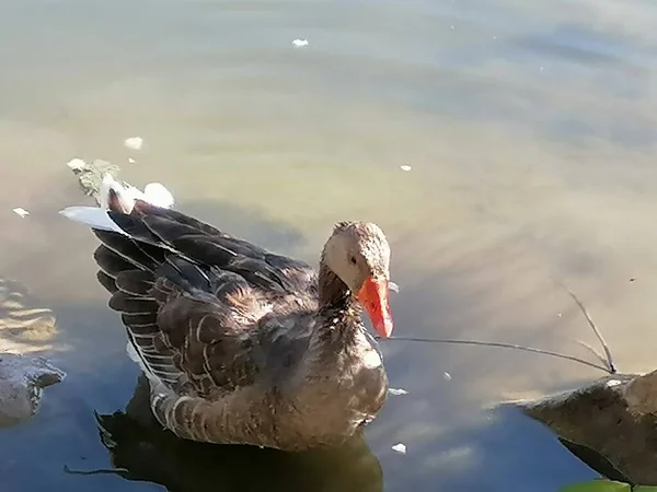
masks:
[[[657,484],[657,371],[614,374],[569,393],[516,405],[552,429],[599,473]]]

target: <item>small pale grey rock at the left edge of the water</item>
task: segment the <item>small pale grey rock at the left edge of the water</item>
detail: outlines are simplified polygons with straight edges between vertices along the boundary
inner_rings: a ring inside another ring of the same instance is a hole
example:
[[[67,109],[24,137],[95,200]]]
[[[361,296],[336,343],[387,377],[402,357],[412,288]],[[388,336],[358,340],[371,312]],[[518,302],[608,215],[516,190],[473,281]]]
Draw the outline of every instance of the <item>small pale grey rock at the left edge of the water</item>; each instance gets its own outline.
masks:
[[[0,353],[0,425],[11,425],[34,415],[43,389],[65,376],[64,371],[42,356]]]

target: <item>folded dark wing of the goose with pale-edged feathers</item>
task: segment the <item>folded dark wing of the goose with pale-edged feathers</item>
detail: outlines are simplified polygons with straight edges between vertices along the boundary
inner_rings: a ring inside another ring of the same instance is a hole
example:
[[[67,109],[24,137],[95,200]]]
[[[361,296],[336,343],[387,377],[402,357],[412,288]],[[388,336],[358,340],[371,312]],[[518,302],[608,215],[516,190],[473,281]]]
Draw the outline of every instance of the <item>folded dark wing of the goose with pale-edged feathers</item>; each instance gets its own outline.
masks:
[[[295,309],[308,319],[316,305],[316,276],[302,261],[139,200],[130,214],[108,214],[126,234],[94,230],[99,281],[138,362],[171,390],[211,398],[257,384],[273,364],[267,350],[303,328]]]

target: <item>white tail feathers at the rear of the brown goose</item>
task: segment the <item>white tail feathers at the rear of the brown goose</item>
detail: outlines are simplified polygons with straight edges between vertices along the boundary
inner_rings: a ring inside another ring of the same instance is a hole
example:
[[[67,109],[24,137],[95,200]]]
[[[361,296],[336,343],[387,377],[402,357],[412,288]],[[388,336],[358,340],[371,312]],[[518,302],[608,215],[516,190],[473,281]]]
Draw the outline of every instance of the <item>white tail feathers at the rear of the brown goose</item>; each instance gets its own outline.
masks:
[[[60,210],[64,216],[81,222],[92,229],[101,231],[117,232],[126,234],[107,214],[108,210],[120,213],[130,213],[135,207],[135,200],[148,201],[158,207],[170,209],[174,204],[171,192],[160,183],[149,183],[143,191],[120,183],[112,175],[103,177],[100,190],[100,207],[74,206]]]

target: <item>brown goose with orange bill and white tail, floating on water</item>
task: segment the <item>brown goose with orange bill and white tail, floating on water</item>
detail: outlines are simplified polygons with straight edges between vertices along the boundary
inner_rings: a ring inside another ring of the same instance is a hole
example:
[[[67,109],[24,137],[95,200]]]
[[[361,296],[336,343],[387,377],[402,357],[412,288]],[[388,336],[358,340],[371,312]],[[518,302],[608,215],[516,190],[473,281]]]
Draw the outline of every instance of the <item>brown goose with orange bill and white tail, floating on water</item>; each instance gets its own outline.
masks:
[[[158,204],[104,181],[100,207],[60,213],[100,241],[97,281],[165,430],[302,452],[339,446],[376,419],[388,396],[377,340],[393,330],[379,225],[335,224],[314,269],[175,210],[169,196]]]

